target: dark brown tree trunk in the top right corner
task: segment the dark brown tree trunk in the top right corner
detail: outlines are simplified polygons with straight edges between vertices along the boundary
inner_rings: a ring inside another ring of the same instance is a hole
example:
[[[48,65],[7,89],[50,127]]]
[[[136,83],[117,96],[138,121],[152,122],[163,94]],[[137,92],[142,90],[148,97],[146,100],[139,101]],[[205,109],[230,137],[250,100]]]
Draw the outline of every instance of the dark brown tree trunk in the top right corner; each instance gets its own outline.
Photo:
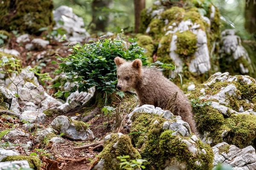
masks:
[[[250,34],[256,34],[256,3],[255,0],[245,1],[245,29]]]

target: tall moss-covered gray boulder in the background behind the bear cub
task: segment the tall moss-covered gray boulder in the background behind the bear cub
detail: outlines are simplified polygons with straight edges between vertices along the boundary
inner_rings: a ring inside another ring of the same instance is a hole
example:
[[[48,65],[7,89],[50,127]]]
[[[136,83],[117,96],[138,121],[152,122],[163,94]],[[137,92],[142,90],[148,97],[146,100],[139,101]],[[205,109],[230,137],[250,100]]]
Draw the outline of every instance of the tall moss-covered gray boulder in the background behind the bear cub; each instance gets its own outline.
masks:
[[[219,34],[220,16],[212,4],[208,4],[209,13],[205,16],[199,13],[202,7],[196,1],[184,4],[187,7],[183,8],[179,5],[176,1],[156,1],[142,11],[140,30],[159,41],[157,60],[175,64],[185,79],[193,81],[193,77],[211,69],[210,40],[218,37],[213,35]],[[175,77],[172,71],[166,74]]]

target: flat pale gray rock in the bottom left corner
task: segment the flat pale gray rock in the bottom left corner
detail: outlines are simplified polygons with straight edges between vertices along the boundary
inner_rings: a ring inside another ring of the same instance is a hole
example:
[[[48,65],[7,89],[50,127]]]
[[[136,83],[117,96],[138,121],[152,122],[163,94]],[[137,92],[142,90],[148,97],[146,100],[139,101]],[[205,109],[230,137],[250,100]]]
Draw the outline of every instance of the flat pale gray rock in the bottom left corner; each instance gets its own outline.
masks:
[[[0,170],[20,170],[21,168],[30,168],[29,162],[26,160],[0,162]]]

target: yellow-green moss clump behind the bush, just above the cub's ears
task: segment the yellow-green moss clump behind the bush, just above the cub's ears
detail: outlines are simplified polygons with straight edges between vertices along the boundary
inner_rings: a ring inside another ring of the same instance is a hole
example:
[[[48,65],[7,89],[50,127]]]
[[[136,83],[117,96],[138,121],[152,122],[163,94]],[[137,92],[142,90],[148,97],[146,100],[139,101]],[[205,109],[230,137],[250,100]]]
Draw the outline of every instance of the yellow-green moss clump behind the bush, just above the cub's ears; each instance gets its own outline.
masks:
[[[151,58],[154,52],[154,45],[153,45],[152,38],[148,35],[140,35],[137,38],[138,38],[137,40],[138,45],[140,47],[145,48],[146,49],[145,55]]]

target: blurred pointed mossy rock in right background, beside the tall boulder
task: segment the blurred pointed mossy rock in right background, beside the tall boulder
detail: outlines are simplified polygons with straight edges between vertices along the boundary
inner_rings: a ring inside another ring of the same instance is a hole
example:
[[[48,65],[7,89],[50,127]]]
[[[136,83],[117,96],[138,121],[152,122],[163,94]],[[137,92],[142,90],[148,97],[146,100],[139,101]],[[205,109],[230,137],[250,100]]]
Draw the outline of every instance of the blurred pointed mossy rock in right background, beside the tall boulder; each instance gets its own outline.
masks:
[[[219,54],[221,71],[255,77],[251,59],[235,30],[227,29],[221,32]]]

